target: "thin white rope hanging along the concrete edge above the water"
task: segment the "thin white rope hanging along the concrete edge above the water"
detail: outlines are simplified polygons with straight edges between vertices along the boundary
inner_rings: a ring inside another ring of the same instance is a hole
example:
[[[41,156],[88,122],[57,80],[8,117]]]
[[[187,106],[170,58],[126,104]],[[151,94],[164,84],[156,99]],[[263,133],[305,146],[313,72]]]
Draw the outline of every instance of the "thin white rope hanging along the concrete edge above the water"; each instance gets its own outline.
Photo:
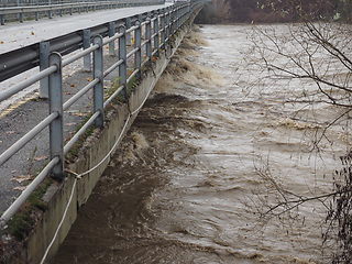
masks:
[[[176,48],[175,48],[174,52],[170,54],[170,56],[167,57],[167,59],[169,59],[170,57],[173,57],[174,54],[175,54],[175,52],[176,52]],[[163,74],[164,69],[166,68],[167,64],[168,64],[167,61],[165,61],[165,63],[164,63],[164,65],[163,65],[163,67],[162,67],[161,73],[160,73],[157,76],[154,76],[153,82],[152,82],[152,85],[151,85],[151,87],[150,87],[150,89],[148,89],[148,91],[147,91],[147,94],[146,94],[143,102],[142,102],[132,113],[130,113],[130,116],[128,117],[127,121],[124,122],[123,129],[122,129],[122,131],[121,131],[118,140],[116,141],[116,143],[113,144],[113,146],[112,146],[112,148],[109,151],[109,153],[105,156],[105,158],[102,158],[101,162],[99,162],[96,166],[94,166],[94,167],[90,168],[89,170],[87,170],[87,172],[85,172],[85,173],[82,173],[82,174],[76,175],[75,183],[74,183],[74,186],[73,186],[73,190],[72,190],[72,193],[70,193],[70,196],[69,196],[67,206],[66,206],[66,208],[65,208],[65,211],[64,211],[62,221],[59,222],[59,224],[58,224],[58,227],[57,227],[57,229],[56,229],[56,231],[55,231],[55,234],[54,234],[54,237],[53,237],[53,239],[52,239],[52,242],[50,243],[50,245],[47,246],[47,249],[46,249],[46,251],[45,251],[45,254],[44,254],[44,256],[43,256],[43,258],[42,258],[42,261],[41,261],[41,264],[44,263],[44,261],[45,261],[45,258],[46,258],[46,256],[47,256],[51,248],[53,246],[53,244],[54,244],[54,242],[55,242],[55,240],[56,240],[56,237],[57,237],[57,234],[58,234],[58,231],[61,230],[61,228],[62,228],[62,226],[63,226],[63,223],[64,223],[64,221],[65,221],[65,218],[66,218],[68,208],[69,208],[70,202],[72,202],[73,197],[74,197],[74,193],[75,193],[75,188],[76,188],[76,185],[77,185],[77,180],[78,180],[81,176],[85,176],[85,175],[91,173],[92,170],[95,170],[97,167],[99,167],[99,166],[111,155],[111,153],[113,152],[113,150],[116,148],[116,146],[119,144],[119,142],[120,142],[120,140],[121,140],[121,138],[122,138],[122,135],[123,135],[123,133],[124,133],[128,124],[129,124],[129,121],[130,121],[131,117],[141,110],[141,108],[143,107],[144,102],[147,100],[147,98],[148,98],[152,89],[154,88],[154,85],[156,84],[157,79],[162,76],[162,74]]]

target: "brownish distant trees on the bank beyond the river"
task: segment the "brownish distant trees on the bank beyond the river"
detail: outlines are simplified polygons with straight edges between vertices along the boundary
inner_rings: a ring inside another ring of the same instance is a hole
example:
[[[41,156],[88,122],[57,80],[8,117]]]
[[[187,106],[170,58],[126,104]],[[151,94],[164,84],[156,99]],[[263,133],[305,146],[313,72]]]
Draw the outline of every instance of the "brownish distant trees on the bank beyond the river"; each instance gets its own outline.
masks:
[[[352,21],[352,0],[212,0],[198,23],[283,23],[306,20]]]

